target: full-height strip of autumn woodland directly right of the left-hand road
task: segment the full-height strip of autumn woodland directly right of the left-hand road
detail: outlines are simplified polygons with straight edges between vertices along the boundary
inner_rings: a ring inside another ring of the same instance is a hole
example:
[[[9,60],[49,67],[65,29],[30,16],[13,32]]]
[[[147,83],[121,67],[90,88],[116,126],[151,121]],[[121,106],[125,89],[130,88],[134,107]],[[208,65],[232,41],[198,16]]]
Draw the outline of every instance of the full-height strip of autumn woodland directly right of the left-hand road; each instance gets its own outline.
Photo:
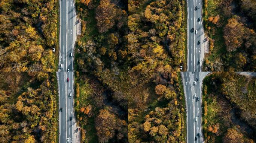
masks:
[[[76,0],[82,22],[75,53],[81,143],[128,143],[126,2]]]

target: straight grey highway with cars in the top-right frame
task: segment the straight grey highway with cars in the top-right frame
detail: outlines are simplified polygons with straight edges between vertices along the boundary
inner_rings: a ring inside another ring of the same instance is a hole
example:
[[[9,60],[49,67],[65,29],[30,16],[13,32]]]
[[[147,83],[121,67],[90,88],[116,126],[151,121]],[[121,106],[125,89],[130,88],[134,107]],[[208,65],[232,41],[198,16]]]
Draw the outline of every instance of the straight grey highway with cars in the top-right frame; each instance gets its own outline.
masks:
[[[188,71],[201,71],[204,57],[204,31],[202,29],[201,0],[187,0],[188,2]],[[196,10],[195,7],[198,7]],[[200,20],[198,19],[200,18]],[[194,30],[192,31],[192,28]],[[196,34],[196,30],[198,33]],[[198,43],[200,41],[200,44]],[[200,61],[200,64],[198,64]]]

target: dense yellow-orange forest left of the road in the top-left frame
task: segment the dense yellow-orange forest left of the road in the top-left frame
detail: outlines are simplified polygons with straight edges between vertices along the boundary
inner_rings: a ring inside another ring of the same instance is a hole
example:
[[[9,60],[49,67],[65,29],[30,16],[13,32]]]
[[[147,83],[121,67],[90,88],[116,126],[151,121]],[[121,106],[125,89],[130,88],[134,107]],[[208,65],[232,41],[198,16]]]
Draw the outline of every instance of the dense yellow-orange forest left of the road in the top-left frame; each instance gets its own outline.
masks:
[[[0,71],[56,71],[58,4],[58,0],[0,1]]]

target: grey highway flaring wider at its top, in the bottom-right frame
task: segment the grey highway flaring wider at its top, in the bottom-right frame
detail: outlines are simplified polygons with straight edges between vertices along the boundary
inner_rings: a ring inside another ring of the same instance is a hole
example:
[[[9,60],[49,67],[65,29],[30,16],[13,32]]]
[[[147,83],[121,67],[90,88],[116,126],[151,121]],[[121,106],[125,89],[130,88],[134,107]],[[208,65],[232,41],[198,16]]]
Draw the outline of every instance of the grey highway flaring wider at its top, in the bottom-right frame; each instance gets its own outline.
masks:
[[[181,72],[186,99],[187,143],[203,143],[201,131],[201,89],[202,80],[210,72]],[[199,78],[196,81],[196,78]],[[196,81],[196,84],[194,84]],[[196,93],[196,97],[195,97]],[[196,100],[199,97],[199,101]],[[197,121],[195,121],[197,117]],[[198,137],[195,140],[195,137]]]

